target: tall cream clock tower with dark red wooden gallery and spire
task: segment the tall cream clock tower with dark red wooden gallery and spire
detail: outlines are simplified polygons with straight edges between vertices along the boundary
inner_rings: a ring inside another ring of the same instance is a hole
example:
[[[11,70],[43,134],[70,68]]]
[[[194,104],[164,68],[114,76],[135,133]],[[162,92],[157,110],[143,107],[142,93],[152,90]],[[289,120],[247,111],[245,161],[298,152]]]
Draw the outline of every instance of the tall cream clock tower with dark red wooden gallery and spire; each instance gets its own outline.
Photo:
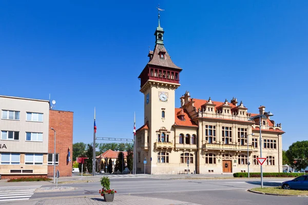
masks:
[[[159,9],[162,11],[162,9]],[[149,61],[138,78],[144,94],[144,126],[137,130],[137,173],[144,172],[143,160],[147,159],[146,173],[159,173],[168,169],[169,156],[175,144],[175,91],[180,86],[180,72],[164,47],[164,30],[155,31],[156,45],[149,51]],[[150,160],[152,159],[152,160]],[[163,168],[164,167],[164,168]]]

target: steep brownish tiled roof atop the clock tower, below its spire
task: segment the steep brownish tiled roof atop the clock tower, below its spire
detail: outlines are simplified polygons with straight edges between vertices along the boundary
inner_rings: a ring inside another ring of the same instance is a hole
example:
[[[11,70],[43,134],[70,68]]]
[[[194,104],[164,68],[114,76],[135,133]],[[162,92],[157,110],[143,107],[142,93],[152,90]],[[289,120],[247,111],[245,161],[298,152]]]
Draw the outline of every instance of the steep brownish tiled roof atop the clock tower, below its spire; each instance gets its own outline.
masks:
[[[160,55],[159,55],[160,51],[165,52],[164,58],[160,57]],[[164,45],[161,45],[161,44],[156,44],[155,49],[153,51],[153,57],[149,61],[148,65],[156,65],[156,66],[163,66],[163,67],[168,67],[168,68],[181,69],[180,67],[176,66],[172,62],[172,60],[171,60],[168,52],[166,51]]]

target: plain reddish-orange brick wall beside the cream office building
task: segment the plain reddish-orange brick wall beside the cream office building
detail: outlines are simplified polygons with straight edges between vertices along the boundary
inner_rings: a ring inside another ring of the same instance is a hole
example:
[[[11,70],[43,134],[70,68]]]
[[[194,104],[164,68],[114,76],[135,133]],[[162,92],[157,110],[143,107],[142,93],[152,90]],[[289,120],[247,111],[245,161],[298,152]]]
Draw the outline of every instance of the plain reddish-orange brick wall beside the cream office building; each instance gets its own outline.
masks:
[[[54,153],[54,132],[55,152],[59,153],[59,166],[55,170],[59,170],[60,176],[72,175],[72,161],[67,161],[68,150],[70,151],[70,159],[73,156],[73,112],[68,111],[49,111],[49,138],[48,153]],[[53,176],[53,166],[48,166],[48,176]]]

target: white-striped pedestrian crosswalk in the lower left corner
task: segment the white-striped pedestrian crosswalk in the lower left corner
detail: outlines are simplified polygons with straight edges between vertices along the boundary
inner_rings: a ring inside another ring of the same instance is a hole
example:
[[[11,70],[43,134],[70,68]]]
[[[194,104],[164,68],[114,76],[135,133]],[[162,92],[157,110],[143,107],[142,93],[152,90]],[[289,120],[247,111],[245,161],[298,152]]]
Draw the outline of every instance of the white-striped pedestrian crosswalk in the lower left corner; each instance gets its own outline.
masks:
[[[28,200],[41,186],[0,187],[0,201]]]

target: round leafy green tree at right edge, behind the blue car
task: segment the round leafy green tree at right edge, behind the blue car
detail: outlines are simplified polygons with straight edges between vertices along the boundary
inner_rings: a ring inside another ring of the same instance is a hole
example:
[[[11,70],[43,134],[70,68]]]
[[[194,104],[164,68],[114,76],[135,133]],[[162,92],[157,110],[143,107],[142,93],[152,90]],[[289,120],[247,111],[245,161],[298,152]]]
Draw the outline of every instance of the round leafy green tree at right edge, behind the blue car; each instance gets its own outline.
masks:
[[[286,151],[288,164],[297,170],[308,167],[308,141],[294,142]]]

